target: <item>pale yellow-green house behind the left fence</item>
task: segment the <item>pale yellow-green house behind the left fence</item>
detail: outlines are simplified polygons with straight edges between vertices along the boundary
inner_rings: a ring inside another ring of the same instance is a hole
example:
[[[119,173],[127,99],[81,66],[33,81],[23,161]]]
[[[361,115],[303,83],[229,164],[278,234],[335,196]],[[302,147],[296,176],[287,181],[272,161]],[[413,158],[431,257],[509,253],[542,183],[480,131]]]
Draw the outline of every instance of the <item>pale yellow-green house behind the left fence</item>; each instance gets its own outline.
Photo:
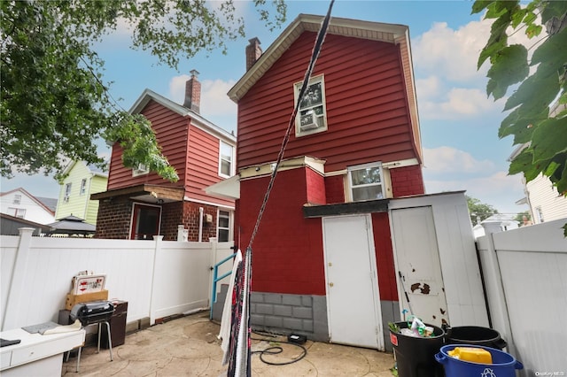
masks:
[[[66,178],[59,190],[55,219],[74,216],[96,226],[98,201],[92,200],[90,195],[105,191],[108,174],[83,161],[71,161],[63,173]]]

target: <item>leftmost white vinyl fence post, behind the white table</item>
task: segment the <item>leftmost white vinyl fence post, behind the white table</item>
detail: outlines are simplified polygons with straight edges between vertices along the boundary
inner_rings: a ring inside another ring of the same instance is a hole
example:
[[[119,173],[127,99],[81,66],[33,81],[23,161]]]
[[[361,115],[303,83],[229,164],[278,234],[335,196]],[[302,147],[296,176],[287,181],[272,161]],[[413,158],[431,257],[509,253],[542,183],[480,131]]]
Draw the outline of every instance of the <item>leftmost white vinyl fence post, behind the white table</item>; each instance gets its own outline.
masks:
[[[12,279],[8,287],[8,295],[6,297],[6,307],[2,316],[2,331],[10,330],[15,319],[19,318],[19,308],[23,301],[21,297],[26,297],[24,288],[26,286],[27,275],[27,259],[29,258],[29,249],[32,242],[32,235],[35,231],[33,227],[19,228],[19,243],[16,250],[16,258],[12,266]]]

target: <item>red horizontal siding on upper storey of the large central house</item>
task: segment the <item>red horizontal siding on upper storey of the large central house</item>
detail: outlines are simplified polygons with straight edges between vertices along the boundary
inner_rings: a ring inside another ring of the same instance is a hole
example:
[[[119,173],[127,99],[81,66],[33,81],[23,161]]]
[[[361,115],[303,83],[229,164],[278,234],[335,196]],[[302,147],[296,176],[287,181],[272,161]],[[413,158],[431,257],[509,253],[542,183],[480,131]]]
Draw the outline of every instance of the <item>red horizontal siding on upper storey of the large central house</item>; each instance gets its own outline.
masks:
[[[238,103],[238,167],[274,161],[315,33],[293,42]],[[416,158],[396,45],[327,35],[313,75],[324,74],[328,130],[296,138],[285,157],[325,159],[327,172],[374,161]]]

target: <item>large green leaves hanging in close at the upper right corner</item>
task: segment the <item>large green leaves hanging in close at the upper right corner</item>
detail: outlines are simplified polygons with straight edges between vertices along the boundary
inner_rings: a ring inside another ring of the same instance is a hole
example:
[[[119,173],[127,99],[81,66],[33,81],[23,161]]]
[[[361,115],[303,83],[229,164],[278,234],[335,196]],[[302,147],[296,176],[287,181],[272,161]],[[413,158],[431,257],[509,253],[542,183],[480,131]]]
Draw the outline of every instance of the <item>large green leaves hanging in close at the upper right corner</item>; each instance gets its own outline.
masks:
[[[499,136],[513,135],[514,144],[526,147],[511,161],[509,173],[524,173],[526,181],[542,173],[567,195],[567,2],[533,0],[522,6],[517,0],[477,0],[472,6],[473,13],[484,10],[485,19],[494,19],[478,57],[478,68],[486,60],[491,65],[486,93],[497,100],[518,84],[504,105],[510,112]],[[509,35],[520,31],[534,41],[531,60],[526,47],[508,43]],[[555,102],[558,110],[550,113]],[[567,235],[567,225],[563,228]]]

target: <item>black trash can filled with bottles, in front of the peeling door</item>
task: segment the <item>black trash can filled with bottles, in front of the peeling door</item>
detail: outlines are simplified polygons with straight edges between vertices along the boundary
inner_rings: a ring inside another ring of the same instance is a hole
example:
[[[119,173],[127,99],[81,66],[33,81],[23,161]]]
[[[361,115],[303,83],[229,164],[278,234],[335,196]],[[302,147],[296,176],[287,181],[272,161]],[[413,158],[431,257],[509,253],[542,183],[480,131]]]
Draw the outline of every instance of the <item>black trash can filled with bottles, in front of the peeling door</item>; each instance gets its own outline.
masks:
[[[408,328],[408,322],[396,322],[402,328]],[[403,335],[390,329],[390,341],[393,355],[398,365],[399,377],[443,377],[443,366],[435,360],[445,342],[445,331],[441,327],[433,327],[431,337],[421,338]]]

